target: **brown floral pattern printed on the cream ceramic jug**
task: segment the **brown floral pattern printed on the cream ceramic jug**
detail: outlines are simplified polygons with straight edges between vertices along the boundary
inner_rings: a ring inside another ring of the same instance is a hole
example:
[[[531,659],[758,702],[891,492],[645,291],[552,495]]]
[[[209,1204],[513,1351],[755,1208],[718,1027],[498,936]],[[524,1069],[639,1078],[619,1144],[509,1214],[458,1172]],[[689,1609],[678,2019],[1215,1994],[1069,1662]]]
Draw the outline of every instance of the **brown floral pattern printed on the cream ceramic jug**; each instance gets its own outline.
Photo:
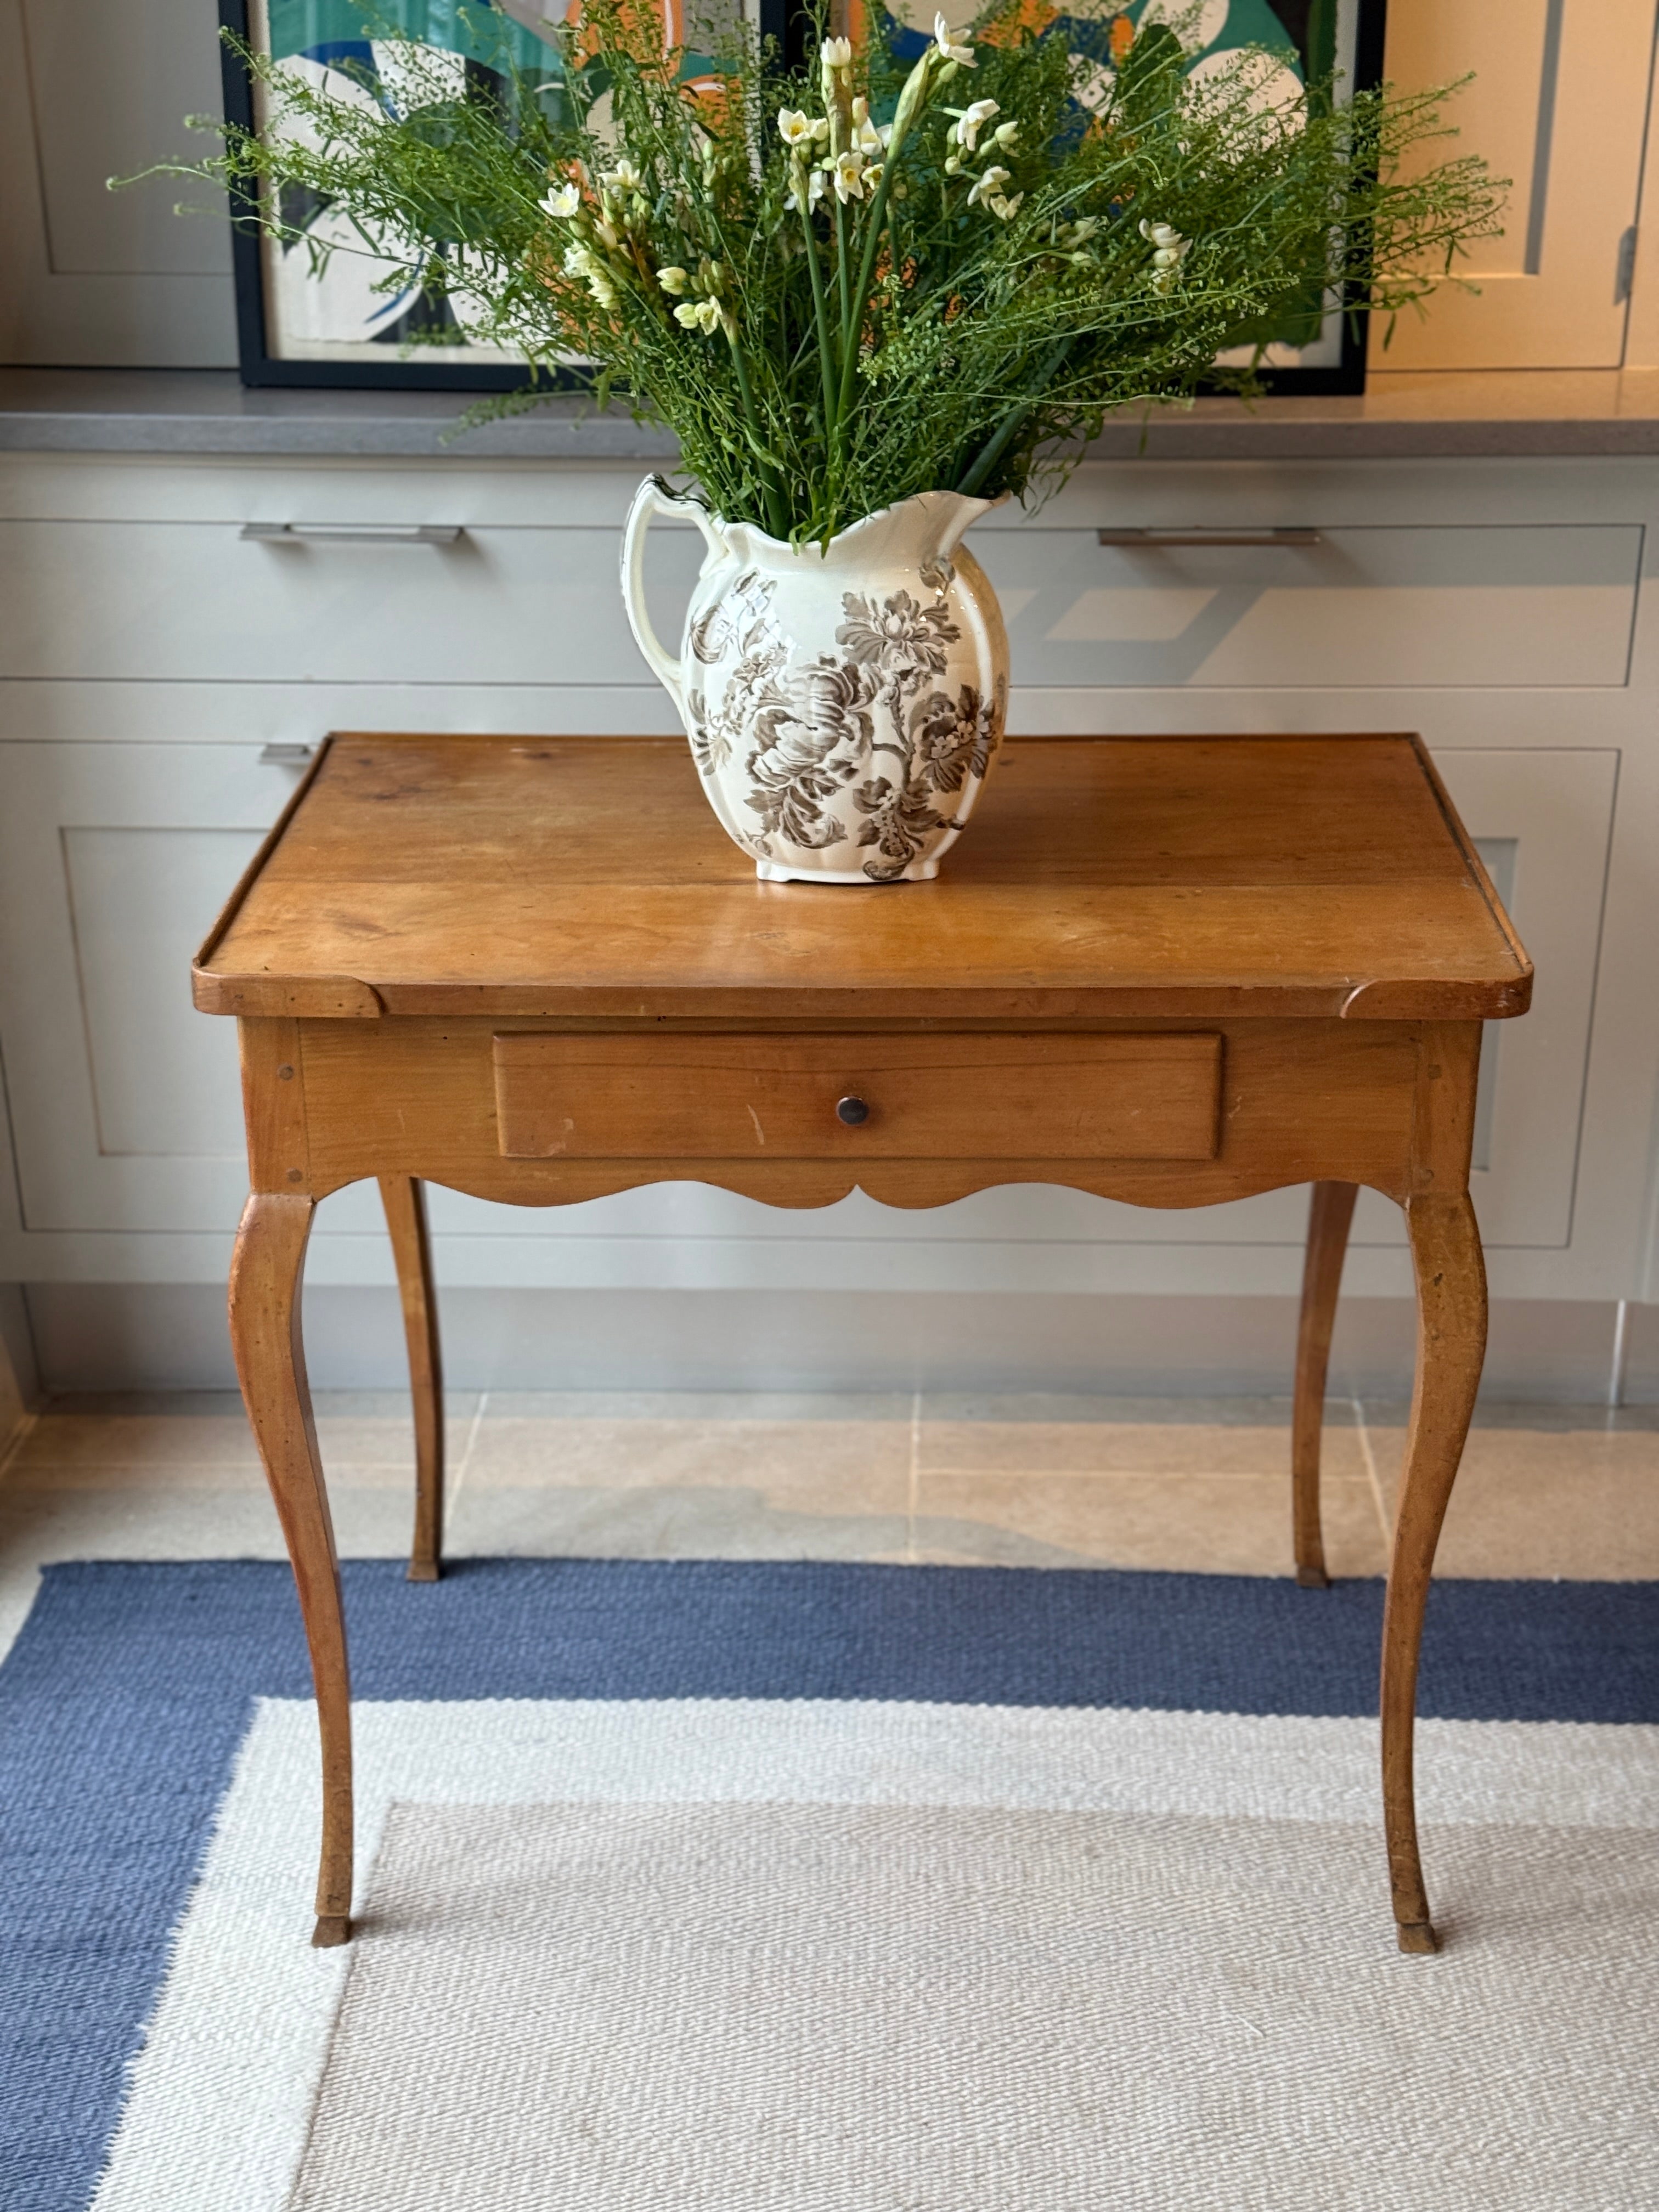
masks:
[[[962,827],[938,801],[984,776],[1002,741],[1002,706],[971,684],[953,699],[936,688],[962,635],[942,597],[922,606],[907,591],[885,599],[849,591],[836,628],[843,655],[792,668],[772,591],[745,571],[692,624],[695,661],[714,668],[734,657],[712,710],[701,684],[688,688],[697,768],[712,779],[741,743],[752,745],[745,805],[761,827],[743,843],[768,860],[781,858],[774,838],[805,852],[847,843],[834,801],[852,787],[865,816],[863,874],[894,883],[936,832]]]

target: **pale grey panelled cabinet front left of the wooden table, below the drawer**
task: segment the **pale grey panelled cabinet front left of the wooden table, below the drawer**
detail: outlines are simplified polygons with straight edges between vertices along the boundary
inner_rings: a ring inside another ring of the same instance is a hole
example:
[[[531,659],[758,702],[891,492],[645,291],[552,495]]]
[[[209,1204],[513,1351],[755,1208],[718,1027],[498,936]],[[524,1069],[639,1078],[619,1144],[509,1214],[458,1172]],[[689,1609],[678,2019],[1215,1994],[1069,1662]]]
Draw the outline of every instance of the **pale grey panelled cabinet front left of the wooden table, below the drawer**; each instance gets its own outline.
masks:
[[[29,1230],[226,1230],[237,1024],[190,953],[281,812],[252,745],[0,745],[0,971]]]

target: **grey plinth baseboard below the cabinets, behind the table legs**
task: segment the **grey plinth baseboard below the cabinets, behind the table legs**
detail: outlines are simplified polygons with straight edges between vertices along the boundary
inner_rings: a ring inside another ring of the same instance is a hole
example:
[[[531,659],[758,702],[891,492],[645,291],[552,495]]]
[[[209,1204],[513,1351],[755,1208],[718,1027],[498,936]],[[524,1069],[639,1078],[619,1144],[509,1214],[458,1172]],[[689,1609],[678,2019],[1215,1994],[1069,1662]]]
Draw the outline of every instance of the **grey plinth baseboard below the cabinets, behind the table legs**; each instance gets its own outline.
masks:
[[[208,1283],[35,1283],[46,1391],[234,1387],[223,1294]],[[1294,1298],[989,1292],[449,1290],[456,1389],[995,1389],[1270,1394],[1290,1387]],[[1608,1398],[1613,1303],[1493,1305],[1486,1398]],[[1347,1298],[1332,1389],[1405,1396],[1409,1298]],[[405,1380],[392,1290],[305,1294],[319,1389]],[[1659,1400],[1659,1307],[1630,1307],[1628,1402]]]

